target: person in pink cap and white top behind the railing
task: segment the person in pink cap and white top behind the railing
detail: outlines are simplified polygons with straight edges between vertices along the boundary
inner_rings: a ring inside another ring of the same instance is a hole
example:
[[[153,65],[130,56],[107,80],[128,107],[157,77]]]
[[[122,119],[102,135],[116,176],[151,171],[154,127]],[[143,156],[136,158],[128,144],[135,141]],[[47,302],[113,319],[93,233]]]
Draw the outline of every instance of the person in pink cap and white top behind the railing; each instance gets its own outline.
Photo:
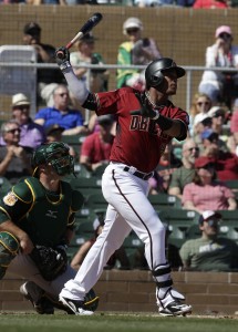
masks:
[[[214,103],[225,102],[230,108],[238,91],[238,75],[235,72],[215,72],[214,66],[237,68],[238,48],[232,45],[230,27],[218,27],[216,42],[206,50],[206,70],[199,84],[199,92],[207,93]]]

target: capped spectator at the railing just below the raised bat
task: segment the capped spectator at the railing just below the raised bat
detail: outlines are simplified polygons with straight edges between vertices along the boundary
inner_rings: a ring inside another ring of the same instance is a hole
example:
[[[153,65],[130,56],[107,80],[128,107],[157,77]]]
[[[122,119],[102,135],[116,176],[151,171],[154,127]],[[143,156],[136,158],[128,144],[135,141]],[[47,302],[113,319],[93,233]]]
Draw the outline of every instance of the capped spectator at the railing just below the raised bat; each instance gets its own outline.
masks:
[[[95,38],[91,33],[86,33],[75,44],[77,51],[70,55],[71,64],[79,80],[84,81],[92,92],[107,91],[108,71],[105,69],[91,70],[91,80],[89,81],[89,70],[83,64],[104,64],[104,60],[100,53],[94,51]],[[79,66],[80,68],[76,68]]]

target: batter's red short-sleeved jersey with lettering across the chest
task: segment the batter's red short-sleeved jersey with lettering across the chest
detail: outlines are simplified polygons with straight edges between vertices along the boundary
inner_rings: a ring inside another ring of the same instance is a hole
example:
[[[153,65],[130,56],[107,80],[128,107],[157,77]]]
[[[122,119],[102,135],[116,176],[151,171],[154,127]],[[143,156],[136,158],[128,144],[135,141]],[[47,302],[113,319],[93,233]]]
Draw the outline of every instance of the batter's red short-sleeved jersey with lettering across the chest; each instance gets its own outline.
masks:
[[[111,151],[111,160],[134,166],[144,173],[153,172],[158,165],[165,146],[173,137],[163,133],[159,125],[141,115],[131,115],[131,111],[141,108],[135,96],[135,90],[123,87],[95,94],[97,98],[97,115],[116,114],[116,136]],[[170,118],[177,118],[189,124],[187,112],[175,107],[172,103],[159,113]]]

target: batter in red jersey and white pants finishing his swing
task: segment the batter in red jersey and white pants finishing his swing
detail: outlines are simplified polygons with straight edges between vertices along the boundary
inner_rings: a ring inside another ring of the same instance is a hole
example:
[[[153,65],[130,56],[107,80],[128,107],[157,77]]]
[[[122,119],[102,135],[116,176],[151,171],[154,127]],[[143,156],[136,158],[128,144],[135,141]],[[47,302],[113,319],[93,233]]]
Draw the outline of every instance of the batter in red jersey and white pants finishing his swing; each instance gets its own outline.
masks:
[[[146,68],[145,93],[131,87],[91,93],[74,75],[69,50],[60,48],[55,56],[70,90],[83,107],[97,115],[117,116],[111,163],[102,178],[103,195],[108,203],[105,226],[75,278],[64,284],[60,300],[74,313],[89,314],[83,309],[85,293],[96,283],[111,255],[133,229],[145,243],[159,313],[180,315],[190,312],[192,307],[183,303],[184,295],[173,288],[170,267],[165,257],[165,228],[147,199],[147,180],[165,146],[173,137],[182,141],[187,135],[187,113],[168,100],[176,94],[177,79],[185,75],[185,70],[172,59],[163,58]]]

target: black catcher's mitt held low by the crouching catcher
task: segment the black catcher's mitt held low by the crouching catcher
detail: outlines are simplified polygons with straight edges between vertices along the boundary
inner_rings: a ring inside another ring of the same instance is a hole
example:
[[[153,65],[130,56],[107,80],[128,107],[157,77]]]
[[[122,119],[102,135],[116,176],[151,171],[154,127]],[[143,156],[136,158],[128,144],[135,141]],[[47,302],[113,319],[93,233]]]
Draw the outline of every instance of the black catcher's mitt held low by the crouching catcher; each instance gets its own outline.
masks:
[[[68,256],[64,246],[56,248],[35,246],[30,257],[41,276],[48,281],[52,281],[62,274],[68,267]]]

